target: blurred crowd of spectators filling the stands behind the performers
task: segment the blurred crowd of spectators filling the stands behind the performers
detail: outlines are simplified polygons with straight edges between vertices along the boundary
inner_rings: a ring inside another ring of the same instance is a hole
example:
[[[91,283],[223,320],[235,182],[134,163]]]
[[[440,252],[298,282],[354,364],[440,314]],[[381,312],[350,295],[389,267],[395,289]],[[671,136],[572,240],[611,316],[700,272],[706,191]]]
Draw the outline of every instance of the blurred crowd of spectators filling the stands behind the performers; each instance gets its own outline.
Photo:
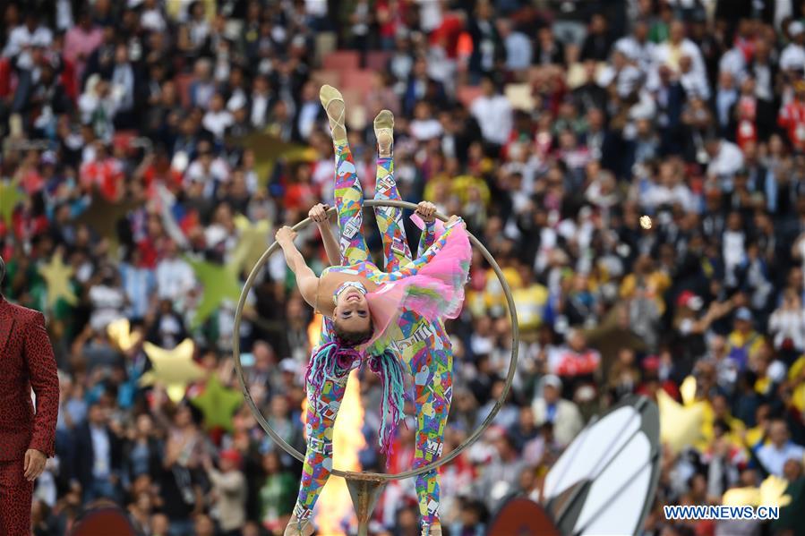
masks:
[[[315,319],[281,256],[240,333],[234,311],[272,229],[332,199],[321,83],[347,98],[367,197],[387,107],[404,198],[462,215],[517,302],[507,402],[441,470],[446,533],[484,533],[506,498],[538,497],[590,416],[631,393],[680,400],[689,376],[704,417],[664,448],[645,533],[759,534],[668,522],[661,505],[720,504],[769,474],[792,506],[764,530],[805,530],[805,3],[3,5],[2,292],[46,312],[62,388],[37,535],[98,498],[144,534],[281,532],[301,466],[241,404],[232,343],[263,415],[303,449]],[[321,269],[312,228],[302,242]],[[480,255],[449,331],[446,452],[508,371],[505,297]],[[382,469],[380,386],[360,376],[359,461]],[[409,468],[414,430],[390,470]],[[413,481],[385,491],[373,530],[418,533]]]

